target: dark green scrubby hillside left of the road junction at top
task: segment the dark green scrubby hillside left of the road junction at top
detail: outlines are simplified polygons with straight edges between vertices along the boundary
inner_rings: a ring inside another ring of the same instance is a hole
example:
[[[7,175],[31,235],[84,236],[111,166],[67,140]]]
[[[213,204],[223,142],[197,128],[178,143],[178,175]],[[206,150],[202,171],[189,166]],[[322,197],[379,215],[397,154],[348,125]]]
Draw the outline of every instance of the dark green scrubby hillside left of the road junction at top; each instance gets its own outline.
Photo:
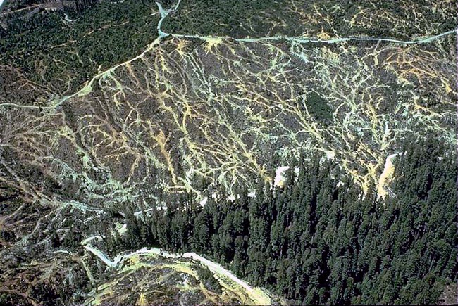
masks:
[[[141,53],[157,37],[159,13],[153,0],[104,1],[71,15],[41,12],[15,15],[0,32],[0,64],[25,70],[53,91],[72,91],[106,69]]]

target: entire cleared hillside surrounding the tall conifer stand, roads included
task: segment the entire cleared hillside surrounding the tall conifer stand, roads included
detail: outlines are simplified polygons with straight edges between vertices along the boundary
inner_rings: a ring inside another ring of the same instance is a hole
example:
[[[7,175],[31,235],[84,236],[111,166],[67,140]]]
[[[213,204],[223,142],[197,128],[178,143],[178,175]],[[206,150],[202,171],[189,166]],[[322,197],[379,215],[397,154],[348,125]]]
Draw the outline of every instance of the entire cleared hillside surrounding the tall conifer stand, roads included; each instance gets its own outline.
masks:
[[[107,269],[81,242],[132,230],[130,212],[269,186],[299,153],[390,200],[398,165],[385,165],[406,141],[456,146],[452,1],[286,2],[240,1],[231,17],[230,1],[101,1],[70,21],[2,20],[1,302],[254,303],[197,262]]]

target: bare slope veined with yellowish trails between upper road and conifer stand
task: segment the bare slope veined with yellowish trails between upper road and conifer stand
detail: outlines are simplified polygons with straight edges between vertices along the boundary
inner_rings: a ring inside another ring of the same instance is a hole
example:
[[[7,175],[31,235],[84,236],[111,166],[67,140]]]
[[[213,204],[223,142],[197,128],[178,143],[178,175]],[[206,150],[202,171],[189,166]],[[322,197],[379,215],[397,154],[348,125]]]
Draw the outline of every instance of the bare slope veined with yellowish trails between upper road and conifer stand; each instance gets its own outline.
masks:
[[[199,196],[211,183],[268,180],[300,148],[335,158],[367,190],[407,134],[455,141],[450,39],[166,39],[75,96],[5,105],[14,132],[3,146],[98,208],[150,203],[154,189]]]

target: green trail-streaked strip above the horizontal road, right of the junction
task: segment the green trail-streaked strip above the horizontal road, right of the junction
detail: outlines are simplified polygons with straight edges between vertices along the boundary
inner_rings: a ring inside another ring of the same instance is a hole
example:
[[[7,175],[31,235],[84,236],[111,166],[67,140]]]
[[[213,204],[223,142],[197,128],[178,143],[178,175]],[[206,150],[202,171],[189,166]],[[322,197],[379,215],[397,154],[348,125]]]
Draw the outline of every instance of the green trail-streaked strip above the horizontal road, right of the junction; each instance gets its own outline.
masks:
[[[167,1],[170,2],[170,1]],[[263,37],[395,37],[452,30],[452,1],[182,0],[169,33]]]

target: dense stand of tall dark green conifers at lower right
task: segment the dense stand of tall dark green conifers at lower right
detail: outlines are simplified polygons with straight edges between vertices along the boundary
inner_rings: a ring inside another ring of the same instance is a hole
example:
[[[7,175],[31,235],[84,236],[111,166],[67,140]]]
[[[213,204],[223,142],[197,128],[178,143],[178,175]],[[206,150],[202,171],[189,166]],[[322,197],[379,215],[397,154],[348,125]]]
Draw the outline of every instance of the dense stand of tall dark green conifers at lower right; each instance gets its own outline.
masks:
[[[298,303],[433,304],[457,279],[457,167],[432,139],[404,151],[387,200],[301,158],[283,189],[259,184],[255,198],[239,186],[235,201],[219,190],[204,208],[184,196],[148,217],[127,211],[128,234],[106,247],[202,253]]]

